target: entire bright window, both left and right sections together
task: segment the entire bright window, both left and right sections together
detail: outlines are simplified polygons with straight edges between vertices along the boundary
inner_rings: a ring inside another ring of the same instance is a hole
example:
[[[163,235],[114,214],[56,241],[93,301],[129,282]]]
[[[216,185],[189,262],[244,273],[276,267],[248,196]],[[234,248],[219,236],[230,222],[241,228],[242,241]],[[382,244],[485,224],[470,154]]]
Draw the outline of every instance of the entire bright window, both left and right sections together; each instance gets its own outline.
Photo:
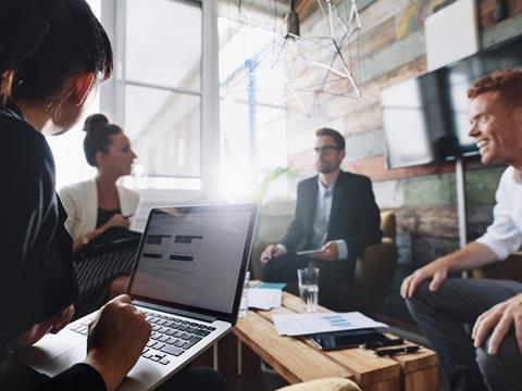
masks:
[[[226,18],[217,35],[211,0],[89,3],[101,14],[115,64],[86,115],[108,114],[130,138],[138,157],[125,186],[142,194],[171,189],[207,195],[221,187],[227,197],[250,198],[268,173],[287,166],[286,108],[270,93],[282,81],[256,67],[259,48],[270,45],[266,35],[250,31],[248,41]],[[245,78],[248,68],[253,72]],[[229,93],[231,80],[247,84]],[[50,139],[59,186],[95,173],[79,128]],[[274,190],[286,194],[286,181]]]

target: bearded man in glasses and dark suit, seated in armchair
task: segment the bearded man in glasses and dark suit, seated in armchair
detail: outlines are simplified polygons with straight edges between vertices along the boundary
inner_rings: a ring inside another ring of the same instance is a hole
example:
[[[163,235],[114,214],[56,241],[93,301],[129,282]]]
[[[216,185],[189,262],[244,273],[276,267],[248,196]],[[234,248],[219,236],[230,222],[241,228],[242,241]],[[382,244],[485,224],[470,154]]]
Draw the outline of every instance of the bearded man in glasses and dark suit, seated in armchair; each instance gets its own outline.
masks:
[[[264,281],[295,281],[297,269],[320,268],[319,302],[336,308],[338,286],[353,275],[356,260],[369,244],[381,241],[381,217],[370,179],[340,171],[345,138],[336,130],[315,133],[315,168],[319,175],[297,187],[294,220],[278,244],[261,254]],[[298,249],[322,249],[311,256]]]

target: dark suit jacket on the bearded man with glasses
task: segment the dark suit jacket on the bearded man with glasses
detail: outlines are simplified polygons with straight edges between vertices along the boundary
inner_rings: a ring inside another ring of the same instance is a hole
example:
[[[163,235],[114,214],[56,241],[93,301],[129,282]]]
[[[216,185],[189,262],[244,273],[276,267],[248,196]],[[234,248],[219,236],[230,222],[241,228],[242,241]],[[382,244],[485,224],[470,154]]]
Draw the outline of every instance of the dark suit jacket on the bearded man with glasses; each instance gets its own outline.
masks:
[[[282,241],[288,252],[296,251],[302,243],[304,249],[310,248],[318,187],[316,175],[297,187],[296,213]],[[355,261],[366,245],[381,242],[382,236],[381,215],[370,178],[340,172],[334,187],[326,241],[345,240],[348,260]]]

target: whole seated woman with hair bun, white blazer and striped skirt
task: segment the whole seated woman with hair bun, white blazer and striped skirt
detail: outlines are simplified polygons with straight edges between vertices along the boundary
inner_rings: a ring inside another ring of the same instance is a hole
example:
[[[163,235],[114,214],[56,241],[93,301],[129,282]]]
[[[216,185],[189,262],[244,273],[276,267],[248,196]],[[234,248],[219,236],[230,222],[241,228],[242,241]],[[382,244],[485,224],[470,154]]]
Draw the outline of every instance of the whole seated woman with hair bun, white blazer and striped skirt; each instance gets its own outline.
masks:
[[[59,192],[69,215],[65,226],[73,237],[75,252],[90,242],[109,243],[125,237],[139,204],[136,191],[116,185],[117,179],[130,174],[136,157],[123,129],[111,124],[103,114],[92,114],[85,121],[84,130],[85,157],[98,174],[90,180],[66,186]],[[109,255],[107,251],[112,250],[105,249]],[[99,254],[98,258],[100,255],[103,254]],[[79,300],[76,316],[92,312],[107,299],[125,292],[134,253],[114,253],[111,267],[104,264],[105,258],[103,262],[78,265]]]

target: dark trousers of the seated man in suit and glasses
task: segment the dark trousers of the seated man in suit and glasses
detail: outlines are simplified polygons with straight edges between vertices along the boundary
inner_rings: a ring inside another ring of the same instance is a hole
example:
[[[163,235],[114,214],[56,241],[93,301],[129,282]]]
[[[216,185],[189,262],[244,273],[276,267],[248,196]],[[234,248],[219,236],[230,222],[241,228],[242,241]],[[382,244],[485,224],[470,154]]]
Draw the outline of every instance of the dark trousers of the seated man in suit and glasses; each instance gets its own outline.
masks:
[[[298,268],[319,267],[319,304],[335,310],[339,285],[350,277],[346,270],[347,261],[318,261],[310,256],[286,254],[264,264],[261,278],[268,282],[297,282]]]

